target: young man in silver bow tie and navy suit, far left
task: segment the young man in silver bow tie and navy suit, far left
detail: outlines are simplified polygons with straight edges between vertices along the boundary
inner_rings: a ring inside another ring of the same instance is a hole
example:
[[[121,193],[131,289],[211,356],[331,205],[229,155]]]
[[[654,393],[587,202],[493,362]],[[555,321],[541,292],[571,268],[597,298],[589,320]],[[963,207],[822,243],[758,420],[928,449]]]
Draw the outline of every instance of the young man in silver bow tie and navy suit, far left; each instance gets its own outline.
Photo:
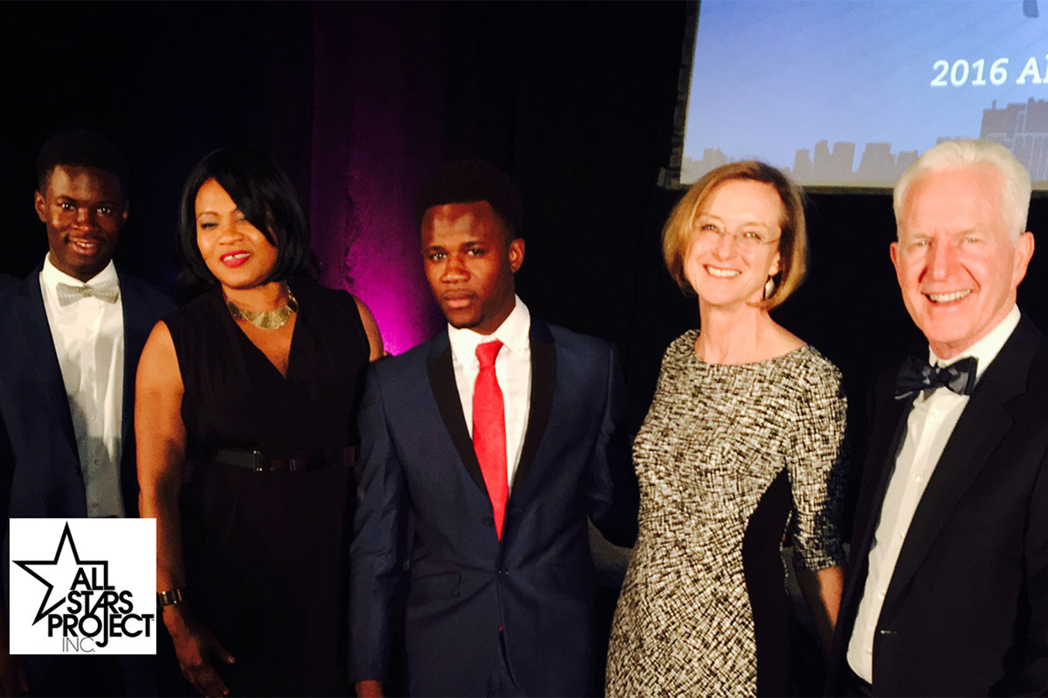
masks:
[[[37,159],[48,253],[0,292],[0,502],[3,606],[8,517],[137,516],[134,375],[167,296],[112,263],[128,216],[127,165],[105,137],[70,131]],[[19,600],[15,600],[19,603]],[[6,613],[0,691],[134,695],[155,691],[136,658],[12,657]]]

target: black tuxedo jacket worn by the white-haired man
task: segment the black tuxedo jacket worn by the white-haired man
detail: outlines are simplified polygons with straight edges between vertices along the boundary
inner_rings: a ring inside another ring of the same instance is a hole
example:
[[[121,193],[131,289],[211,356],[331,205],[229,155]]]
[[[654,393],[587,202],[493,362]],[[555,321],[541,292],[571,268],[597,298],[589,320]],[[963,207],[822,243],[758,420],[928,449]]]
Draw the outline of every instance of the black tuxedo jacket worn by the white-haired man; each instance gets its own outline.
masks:
[[[830,692],[842,693],[870,546],[912,400],[875,389]],[[878,696],[1048,695],[1048,338],[1023,317],[920,499],[873,645]]]

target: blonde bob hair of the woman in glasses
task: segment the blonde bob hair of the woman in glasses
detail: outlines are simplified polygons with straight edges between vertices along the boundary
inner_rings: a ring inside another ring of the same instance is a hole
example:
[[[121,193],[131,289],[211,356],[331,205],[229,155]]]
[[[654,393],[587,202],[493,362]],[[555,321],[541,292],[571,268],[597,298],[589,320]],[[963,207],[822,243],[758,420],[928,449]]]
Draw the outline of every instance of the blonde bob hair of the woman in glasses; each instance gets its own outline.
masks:
[[[779,222],[779,273],[772,277],[774,292],[757,303],[771,310],[789,297],[804,280],[807,267],[807,233],[804,226],[804,199],[801,187],[781,171],[757,160],[742,160],[721,165],[708,172],[681,197],[670,212],[662,228],[662,258],[670,276],[684,295],[695,295],[695,290],[684,276],[684,256],[695,232],[695,218],[709,200],[714,189],[732,180],[750,180],[770,184],[779,194],[783,215]]]

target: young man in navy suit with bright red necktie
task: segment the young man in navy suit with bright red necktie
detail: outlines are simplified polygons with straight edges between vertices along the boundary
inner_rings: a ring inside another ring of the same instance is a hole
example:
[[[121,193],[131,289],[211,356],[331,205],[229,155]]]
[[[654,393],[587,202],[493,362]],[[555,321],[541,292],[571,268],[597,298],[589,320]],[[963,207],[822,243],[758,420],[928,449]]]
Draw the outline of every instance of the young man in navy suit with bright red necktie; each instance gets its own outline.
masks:
[[[587,516],[613,542],[636,536],[615,352],[517,297],[521,205],[503,173],[449,165],[419,215],[449,327],[368,375],[351,551],[357,694],[381,694],[402,618],[412,695],[591,695],[602,658]]]

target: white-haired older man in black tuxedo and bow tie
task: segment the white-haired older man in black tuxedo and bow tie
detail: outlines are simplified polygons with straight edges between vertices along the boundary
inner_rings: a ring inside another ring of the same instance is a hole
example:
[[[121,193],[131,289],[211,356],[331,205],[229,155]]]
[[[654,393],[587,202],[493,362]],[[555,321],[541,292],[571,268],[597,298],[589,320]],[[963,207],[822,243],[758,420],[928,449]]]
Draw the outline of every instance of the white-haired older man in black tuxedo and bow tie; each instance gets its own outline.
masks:
[[[927,340],[874,400],[831,693],[1048,694],[1048,339],[1016,306],[1026,171],[945,141],[895,187]]]

